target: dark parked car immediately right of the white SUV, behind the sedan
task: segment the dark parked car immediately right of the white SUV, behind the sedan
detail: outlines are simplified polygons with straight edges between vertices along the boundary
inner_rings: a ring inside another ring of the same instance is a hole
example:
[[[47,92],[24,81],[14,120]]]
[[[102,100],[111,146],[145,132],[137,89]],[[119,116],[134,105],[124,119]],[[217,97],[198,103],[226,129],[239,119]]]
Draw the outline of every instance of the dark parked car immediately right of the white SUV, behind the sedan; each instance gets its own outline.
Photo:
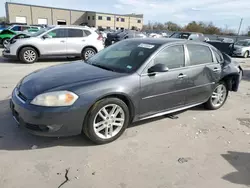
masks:
[[[105,46],[107,47],[118,41],[131,38],[146,38],[146,35],[135,30],[119,30],[117,32],[107,34]]]

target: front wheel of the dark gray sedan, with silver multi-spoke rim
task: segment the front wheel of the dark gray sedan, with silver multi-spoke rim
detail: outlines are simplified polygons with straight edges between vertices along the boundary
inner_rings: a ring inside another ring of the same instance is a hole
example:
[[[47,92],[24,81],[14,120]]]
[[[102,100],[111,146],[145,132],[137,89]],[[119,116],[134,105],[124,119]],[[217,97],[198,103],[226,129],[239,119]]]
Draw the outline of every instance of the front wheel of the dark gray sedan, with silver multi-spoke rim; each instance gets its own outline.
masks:
[[[129,109],[122,100],[105,98],[89,111],[83,132],[96,144],[110,143],[122,135],[129,119]]]

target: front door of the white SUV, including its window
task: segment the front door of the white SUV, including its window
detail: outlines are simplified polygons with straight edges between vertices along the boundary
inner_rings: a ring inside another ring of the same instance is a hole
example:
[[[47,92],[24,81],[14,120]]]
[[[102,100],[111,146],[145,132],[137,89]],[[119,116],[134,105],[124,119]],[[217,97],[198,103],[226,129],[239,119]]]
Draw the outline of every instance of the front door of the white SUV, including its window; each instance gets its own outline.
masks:
[[[41,55],[65,55],[67,53],[67,30],[54,29],[47,35],[49,38],[41,39],[39,44]]]

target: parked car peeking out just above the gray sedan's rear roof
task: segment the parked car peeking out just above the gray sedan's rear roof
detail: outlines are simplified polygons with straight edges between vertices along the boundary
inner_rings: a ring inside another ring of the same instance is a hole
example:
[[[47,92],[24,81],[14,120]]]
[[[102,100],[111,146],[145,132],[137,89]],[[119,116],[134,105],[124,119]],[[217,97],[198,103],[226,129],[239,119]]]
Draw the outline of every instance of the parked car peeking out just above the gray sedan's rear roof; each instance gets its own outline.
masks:
[[[179,39],[187,39],[194,41],[205,42],[206,37],[202,33],[193,33],[193,32],[175,32],[169,38],[179,38]]]

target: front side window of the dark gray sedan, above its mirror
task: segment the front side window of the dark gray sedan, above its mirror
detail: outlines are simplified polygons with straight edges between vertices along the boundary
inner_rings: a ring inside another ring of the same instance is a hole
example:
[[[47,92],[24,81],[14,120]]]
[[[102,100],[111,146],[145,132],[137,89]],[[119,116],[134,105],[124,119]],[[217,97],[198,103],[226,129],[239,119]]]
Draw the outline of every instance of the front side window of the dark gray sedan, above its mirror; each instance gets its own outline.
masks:
[[[154,64],[164,64],[169,69],[185,66],[184,47],[182,45],[171,46],[160,51],[154,59]]]

